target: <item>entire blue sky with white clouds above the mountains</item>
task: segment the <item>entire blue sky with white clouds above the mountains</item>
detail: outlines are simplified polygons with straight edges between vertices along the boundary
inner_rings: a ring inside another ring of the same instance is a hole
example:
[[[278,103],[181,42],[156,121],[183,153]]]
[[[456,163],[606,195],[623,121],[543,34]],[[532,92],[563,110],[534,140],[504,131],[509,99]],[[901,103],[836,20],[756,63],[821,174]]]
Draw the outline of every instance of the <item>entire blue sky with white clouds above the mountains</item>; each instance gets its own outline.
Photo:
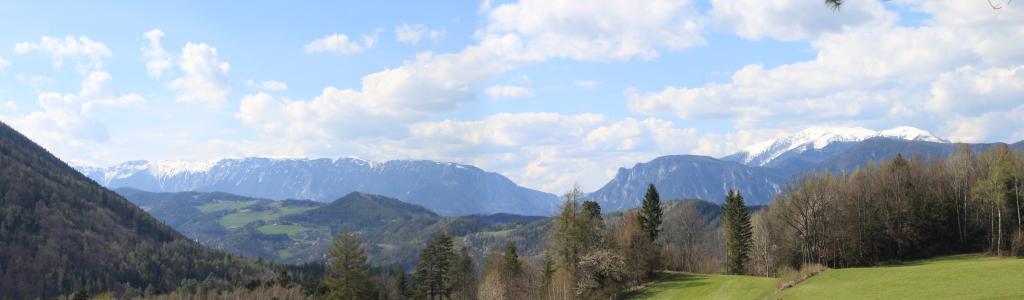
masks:
[[[1000,1],[9,1],[0,120],[78,165],[420,159],[556,194],[810,126],[1014,142]]]

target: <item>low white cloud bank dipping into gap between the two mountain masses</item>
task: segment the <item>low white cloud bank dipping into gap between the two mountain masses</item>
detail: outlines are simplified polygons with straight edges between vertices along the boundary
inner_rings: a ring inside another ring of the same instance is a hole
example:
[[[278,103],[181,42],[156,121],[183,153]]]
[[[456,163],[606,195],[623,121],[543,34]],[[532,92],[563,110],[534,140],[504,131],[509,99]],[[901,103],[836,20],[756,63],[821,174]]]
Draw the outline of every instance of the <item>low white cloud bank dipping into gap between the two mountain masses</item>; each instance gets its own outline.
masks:
[[[690,153],[699,140],[695,129],[672,122],[613,121],[594,114],[498,114],[480,121],[417,123],[410,131],[410,138],[387,143],[385,155],[473,164],[550,192],[578,179],[597,189],[620,167]]]

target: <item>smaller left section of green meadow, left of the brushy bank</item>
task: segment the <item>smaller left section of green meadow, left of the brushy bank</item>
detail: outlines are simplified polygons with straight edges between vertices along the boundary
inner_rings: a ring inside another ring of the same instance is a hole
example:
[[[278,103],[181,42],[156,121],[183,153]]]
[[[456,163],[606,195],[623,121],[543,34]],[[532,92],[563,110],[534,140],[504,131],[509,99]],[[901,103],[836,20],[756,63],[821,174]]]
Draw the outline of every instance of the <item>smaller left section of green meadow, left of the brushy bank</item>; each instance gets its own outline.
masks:
[[[775,291],[776,278],[669,272],[628,299],[761,299]]]

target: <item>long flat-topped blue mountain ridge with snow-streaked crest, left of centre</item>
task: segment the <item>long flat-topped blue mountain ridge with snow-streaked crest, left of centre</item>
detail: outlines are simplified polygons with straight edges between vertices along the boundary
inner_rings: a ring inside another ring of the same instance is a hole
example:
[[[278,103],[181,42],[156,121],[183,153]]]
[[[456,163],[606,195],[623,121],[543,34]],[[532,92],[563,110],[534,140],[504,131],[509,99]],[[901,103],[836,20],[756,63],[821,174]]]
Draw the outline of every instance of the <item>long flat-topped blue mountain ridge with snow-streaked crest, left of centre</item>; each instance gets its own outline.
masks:
[[[558,197],[516,185],[477,167],[432,161],[343,159],[221,159],[134,161],[110,168],[77,166],[110,188],[224,191],[247,197],[332,201],[362,191],[422,205],[440,215],[547,215]]]

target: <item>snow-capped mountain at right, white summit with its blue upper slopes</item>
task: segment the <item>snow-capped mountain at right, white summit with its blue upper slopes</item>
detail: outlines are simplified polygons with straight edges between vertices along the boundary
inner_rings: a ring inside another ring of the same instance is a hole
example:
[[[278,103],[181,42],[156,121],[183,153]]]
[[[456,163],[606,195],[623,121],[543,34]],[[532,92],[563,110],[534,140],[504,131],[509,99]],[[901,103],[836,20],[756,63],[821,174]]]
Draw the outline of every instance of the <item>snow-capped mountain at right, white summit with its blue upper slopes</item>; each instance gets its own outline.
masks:
[[[816,164],[861,141],[874,138],[949,142],[927,130],[907,126],[883,131],[874,131],[862,127],[815,126],[787,137],[766,140],[750,145],[721,160],[737,162],[753,167],[784,167],[783,165],[785,164]],[[791,159],[796,160],[791,161]]]

